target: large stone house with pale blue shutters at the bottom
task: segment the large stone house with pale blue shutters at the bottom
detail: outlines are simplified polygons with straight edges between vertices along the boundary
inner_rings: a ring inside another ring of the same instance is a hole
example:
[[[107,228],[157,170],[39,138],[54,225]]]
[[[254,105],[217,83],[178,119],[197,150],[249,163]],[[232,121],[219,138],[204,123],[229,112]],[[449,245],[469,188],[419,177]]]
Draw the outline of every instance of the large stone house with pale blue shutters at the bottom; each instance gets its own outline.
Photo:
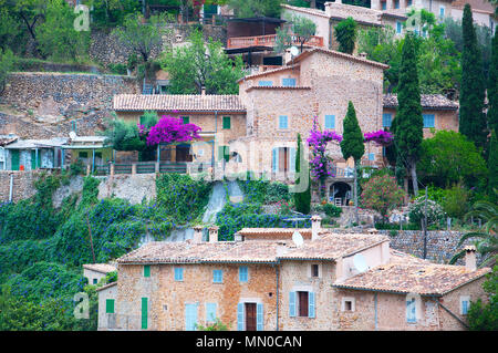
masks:
[[[197,227],[193,240],[121,257],[115,321],[100,330],[196,330],[215,319],[232,331],[464,330],[469,302],[487,300],[490,269],[476,269],[475,248],[466,266],[447,266],[394,251],[385,236],[333,233],[319,217],[300,241],[259,230],[261,239],[246,229],[251,238],[218,241],[212,227],[203,241]]]

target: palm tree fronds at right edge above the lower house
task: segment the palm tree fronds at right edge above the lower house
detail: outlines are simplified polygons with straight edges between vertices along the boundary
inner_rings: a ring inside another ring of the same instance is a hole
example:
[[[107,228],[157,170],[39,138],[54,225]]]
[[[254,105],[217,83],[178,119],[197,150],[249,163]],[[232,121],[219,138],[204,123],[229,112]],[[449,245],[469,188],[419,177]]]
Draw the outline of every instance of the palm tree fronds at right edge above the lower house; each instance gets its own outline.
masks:
[[[494,189],[494,191],[498,195],[496,189]],[[490,261],[496,262],[498,253],[498,205],[489,201],[477,201],[474,204],[473,210],[465,215],[465,220],[468,220],[470,217],[478,217],[486,222],[484,224],[481,231],[471,231],[464,235],[458,241],[457,247],[460,247],[467,239],[476,239],[474,245],[483,257],[480,267]],[[455,263],[464,255],[465,250],[457,252],[452,260],[449,260],[449,263]]]

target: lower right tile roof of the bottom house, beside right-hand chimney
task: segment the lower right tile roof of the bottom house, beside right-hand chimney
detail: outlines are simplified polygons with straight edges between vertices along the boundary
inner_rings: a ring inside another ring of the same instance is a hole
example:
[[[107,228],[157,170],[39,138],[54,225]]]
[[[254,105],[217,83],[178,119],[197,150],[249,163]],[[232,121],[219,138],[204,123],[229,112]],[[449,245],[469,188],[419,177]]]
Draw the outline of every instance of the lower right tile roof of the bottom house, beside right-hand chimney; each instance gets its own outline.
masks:
[[[394,256],[391,262],[356,274],[333,287],[343,289],[444,295],[481,278],[491,269],[468,271],[464,266],[436,264]]]

